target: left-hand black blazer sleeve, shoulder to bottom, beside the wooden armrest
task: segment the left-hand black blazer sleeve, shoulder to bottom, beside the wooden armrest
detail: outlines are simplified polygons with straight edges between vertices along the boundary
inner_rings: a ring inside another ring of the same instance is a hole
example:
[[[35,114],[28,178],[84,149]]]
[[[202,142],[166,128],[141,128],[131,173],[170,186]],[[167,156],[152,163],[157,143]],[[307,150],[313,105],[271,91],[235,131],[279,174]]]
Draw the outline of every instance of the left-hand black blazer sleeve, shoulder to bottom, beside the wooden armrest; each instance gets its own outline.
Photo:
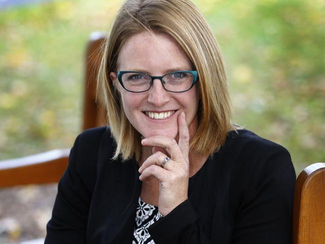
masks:
[[[47,224],[45,244],[86,242],[92,184],[96,178],[98,137],[99,133],[84,132],[71,149],[68,167],[59,181],[52,218]]]

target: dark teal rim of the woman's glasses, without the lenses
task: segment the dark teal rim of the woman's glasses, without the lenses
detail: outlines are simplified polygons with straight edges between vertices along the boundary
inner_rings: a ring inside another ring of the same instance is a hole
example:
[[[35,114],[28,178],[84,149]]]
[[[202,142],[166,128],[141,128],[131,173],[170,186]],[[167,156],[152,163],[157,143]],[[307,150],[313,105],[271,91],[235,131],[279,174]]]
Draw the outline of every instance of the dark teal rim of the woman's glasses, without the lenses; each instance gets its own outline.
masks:
[[[194,86],[194,84],[197,82],[197,78],[198,78],[198,74],[197,74],[197,71],[196,71],[196,70],[175,71],[175,72],[167,73],[167,74],[165,74],[165,75],[163,75],[163,76],[150,76],[150,75],[148,75],[148,74],[146,74],[146,73],[143,73],[143,72],[135,72],[135,71],[118,71],[118,72],[117,72],[117,79],[119,80],[121,86],[122,86],[125,90],[127,90],[128,92],[134,92],[134,93],[140,93],[140,92],[130,91],[130,90],[126,89],[125,86],[123,85],[122,75],[124,75],[124,74],[126,74],[126,73],[139,73],[139,74],[143,74],[143,75],[146,75],[146,76],[148,76],[148,77],[151,78],[151,82],[150,82],[150,86],[149,86],[149,88],[148,88],[147,90],[145,90],[145,91],[141,91],[141,92],[149,91],[149,89],[152,87],[152,84],[153,84],[152,81],[155,80],[155,79],[160,80],[161,85],[162,85],[163,88],[164,88],[166,91],[168,91],[168,92],[174,92],[174,93],[186,92],[186,91],[190,90],[190,89]],[[175,91],[167,90],[167,89],[165,88],[165,86],[164,86],[165,81],[163,81],[163,77],[166,76],[166,75],[174,74],[174,73],[190,73],[190,74],[193,76],[192,85],[191,85],[187,90],[185,90],[185,91],[175,92]]]

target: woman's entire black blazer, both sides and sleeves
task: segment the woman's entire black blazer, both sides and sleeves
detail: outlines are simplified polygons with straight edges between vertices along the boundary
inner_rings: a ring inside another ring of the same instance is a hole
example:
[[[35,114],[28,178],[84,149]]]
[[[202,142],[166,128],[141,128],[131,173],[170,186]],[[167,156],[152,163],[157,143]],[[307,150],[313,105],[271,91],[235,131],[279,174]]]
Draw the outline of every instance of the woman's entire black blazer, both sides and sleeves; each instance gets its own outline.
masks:
[[[135,160],[112,160],[109,128],[80,134],[58,186],[45,244],[132,243],[141,190]],[[290,243],[295,172],[282,146],[231,131],[189,179],[188,200],[149,227],[160,243]]]

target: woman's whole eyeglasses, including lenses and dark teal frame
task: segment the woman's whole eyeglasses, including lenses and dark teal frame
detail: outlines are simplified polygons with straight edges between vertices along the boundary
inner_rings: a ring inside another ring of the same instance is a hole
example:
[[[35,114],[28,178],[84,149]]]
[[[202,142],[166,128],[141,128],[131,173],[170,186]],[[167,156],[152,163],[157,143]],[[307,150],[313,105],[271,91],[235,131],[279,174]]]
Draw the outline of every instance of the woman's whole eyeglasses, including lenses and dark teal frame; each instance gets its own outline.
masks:
[[[162,86],[169,92],[186,92],[197,81],[197,71],[176,71],[163,76],[150,76],[141,72],[119,71],[117,78],[122,87],[129,92],[146,92],[153,80],[160,80]]]

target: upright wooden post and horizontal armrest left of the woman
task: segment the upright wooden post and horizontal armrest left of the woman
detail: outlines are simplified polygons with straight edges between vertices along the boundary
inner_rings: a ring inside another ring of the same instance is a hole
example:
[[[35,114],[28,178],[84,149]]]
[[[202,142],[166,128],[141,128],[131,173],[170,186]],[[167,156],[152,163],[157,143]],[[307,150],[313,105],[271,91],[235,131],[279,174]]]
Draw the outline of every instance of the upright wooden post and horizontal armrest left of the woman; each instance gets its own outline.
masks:
[[[103,106],[96,102],[96,76],[105,35],[91,34],[86,48],[83,130],[107,124]],[[68,165],[70,149],[0,161],[0,187],[58,182]]]

